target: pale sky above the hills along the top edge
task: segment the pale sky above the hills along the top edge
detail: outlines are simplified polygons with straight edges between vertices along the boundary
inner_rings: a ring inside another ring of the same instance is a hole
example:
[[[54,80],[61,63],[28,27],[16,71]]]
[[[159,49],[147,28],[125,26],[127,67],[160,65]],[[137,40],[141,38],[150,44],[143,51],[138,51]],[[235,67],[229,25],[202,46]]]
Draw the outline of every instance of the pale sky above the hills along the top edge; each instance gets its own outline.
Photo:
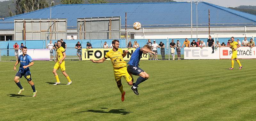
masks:
[[[6,1],[6,0],[0,0],[0,1]],[[187,2],[190,0],[175,0],[177,2]],[[197,0],[192,0],[197,1]],[[216,5],[220,5],[223,7],[237,7],[240,5],[252,5],[256,6],[256,0],[201,0],[207,3],[212,3]]]

